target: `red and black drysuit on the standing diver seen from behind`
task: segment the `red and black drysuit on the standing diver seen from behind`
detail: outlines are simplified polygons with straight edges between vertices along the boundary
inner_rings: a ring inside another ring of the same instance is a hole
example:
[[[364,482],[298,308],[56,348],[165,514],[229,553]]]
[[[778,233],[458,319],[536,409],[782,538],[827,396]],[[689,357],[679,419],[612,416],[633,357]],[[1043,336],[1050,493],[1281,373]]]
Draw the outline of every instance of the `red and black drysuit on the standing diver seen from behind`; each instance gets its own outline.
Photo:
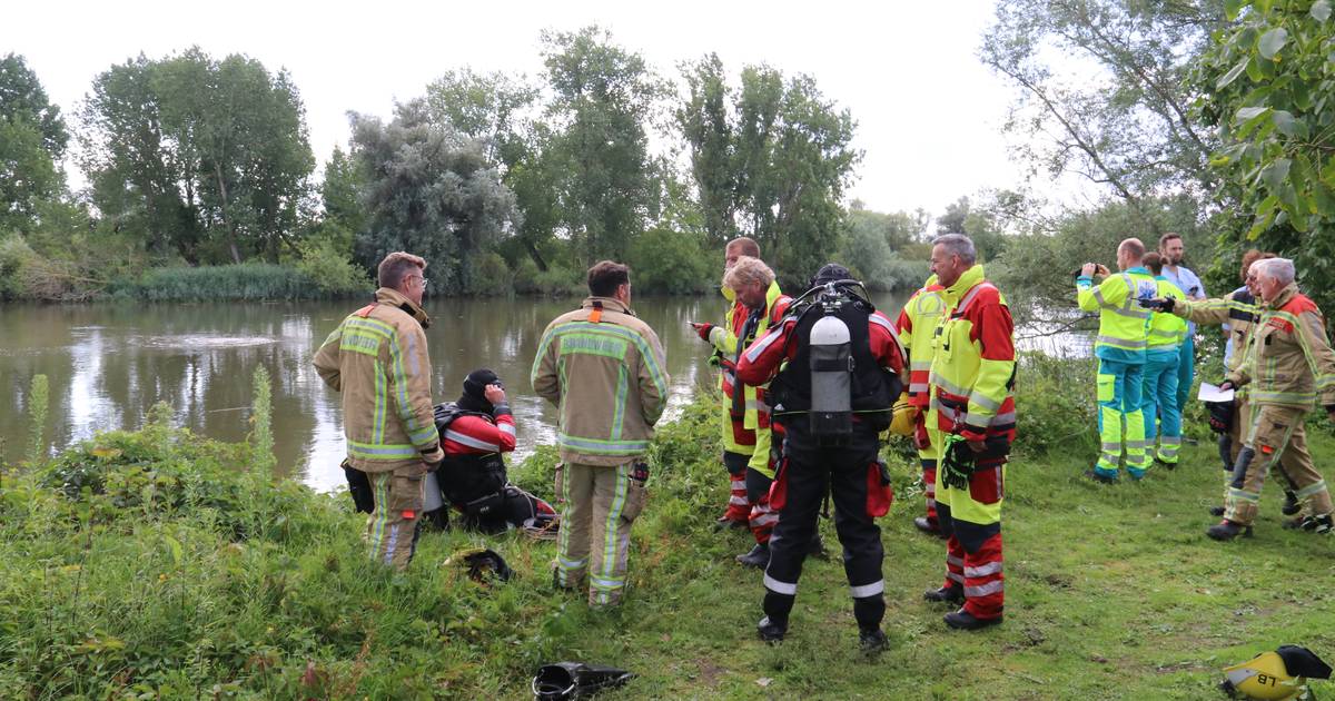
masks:
[[[737,365],[737,378],[746,385],[764,385],[774,378],[769,397],[774,421],[785,429],[782,462],[770,491],[770,506],[780,515],[769,541],[765,616],[780,626],[788,625],[828,487],[834,502],[834,527],[844,546],[853,614],[858,628],[876,630],[885,616],[885,579],[881,529],[872,511],[884,515],[889,507],[888,485],[877,461],[877,434],[889,426],[893,398],[902,387],[898,374],[904,370],[904,350],[894,324],[884,314],[862,300],[848,299],[837,315],[850,335],[853,433],[840,442],[813,435],[808,413],[809,338],[822,314],[821,304],[812,304],[805,314],[784,319],[752,343]]]

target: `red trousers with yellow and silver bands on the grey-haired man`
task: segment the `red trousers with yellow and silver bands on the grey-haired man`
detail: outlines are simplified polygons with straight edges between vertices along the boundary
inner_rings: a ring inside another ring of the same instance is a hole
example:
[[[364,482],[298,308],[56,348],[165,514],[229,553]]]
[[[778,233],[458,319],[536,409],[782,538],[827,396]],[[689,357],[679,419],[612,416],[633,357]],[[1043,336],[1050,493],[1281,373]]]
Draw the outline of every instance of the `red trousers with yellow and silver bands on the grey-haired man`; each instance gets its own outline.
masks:
[[[941,441],[945,443],[945,441]],[[975,458],[967,489],[937,485],[936,509],[945,539],[945,583],[964,589],[964,610],[979,620],[1000,618],[1005,605],[1001,571],[1001,501],[1009,447]],[[944,447],[939,453],[944,459]]]

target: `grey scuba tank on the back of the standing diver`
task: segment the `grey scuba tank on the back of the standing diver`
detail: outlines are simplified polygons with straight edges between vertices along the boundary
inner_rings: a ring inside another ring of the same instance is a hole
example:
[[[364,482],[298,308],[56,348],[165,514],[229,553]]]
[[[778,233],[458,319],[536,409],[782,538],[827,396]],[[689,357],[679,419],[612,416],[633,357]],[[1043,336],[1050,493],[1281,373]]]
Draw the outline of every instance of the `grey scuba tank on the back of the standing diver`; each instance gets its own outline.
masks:
[[[812,326],[812,434],[845,437],[853,434],[853,354],[848,324],[833,315]]]

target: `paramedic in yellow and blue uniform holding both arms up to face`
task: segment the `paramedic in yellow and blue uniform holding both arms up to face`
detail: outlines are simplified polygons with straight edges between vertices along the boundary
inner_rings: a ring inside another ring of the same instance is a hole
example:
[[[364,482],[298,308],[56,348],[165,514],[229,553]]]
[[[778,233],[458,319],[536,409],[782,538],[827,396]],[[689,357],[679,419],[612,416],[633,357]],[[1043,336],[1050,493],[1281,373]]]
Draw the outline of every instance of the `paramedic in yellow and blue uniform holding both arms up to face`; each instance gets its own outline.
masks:
[[[1149,469],[1145,457],[1145,421],[1140,413],[1140,390],[1144,383],[1145,347],[1149,338],[1151,312],[1137,299],[1153,299],[1159,283],[1140,266],[1145,246],[1140,239],[1125,239],[1117,246],[1117,268],[1085,263],[1076,278],[1076,300],[1084,311],[1099,312],[1099,358],[1096,391],[1099,398],[1099,439],[1101,450],[1093,470],[1085,473],[1097,482],[1116,482],[1123,443],[1127,449],[1127,473],[1140,479]],[[1107,275],[1093,286],[1093,274]],[[1125,425],[1125,431],[1123,431]]]

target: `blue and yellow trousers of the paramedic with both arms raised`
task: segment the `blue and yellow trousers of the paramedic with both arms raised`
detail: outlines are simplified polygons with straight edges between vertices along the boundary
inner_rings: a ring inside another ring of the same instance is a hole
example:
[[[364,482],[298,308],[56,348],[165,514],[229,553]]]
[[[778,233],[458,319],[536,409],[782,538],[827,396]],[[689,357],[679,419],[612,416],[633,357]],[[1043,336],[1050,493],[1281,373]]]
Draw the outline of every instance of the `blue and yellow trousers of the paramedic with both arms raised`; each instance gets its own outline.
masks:
[[[1144,383],[1143,363],[1099,359],[1099,462],[1095,471],[1117,477],[1121,447],[1127,447],[1127,471],[1144,477],[1149,467],[1145,457],[1145,418],[1140,411]]]

